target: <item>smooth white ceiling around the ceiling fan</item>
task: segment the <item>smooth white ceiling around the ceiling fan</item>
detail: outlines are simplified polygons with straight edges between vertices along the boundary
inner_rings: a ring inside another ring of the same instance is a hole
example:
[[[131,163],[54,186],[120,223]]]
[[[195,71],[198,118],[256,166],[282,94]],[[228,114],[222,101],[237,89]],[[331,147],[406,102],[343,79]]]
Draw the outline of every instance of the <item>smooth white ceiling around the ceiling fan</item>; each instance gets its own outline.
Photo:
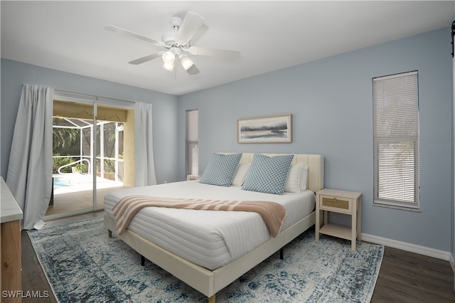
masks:
[[[160,49],[103,28],[161,40],[187,11],[210,28],[196,46],[241,57],[191,56],[198,75],[160,59],[130,65]],[[454,11],[455,1],[1,1],[1,57],[183,95],[438,28],[450,35]]]

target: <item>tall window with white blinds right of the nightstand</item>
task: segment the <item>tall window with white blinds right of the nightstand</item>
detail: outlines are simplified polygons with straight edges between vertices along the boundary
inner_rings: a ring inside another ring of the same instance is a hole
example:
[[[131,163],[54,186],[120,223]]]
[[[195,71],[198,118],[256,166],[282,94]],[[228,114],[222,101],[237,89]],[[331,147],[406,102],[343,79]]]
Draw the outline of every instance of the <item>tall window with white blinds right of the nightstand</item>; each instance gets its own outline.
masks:
[[[373,78],[374,204],[419,208],[417,71]]]

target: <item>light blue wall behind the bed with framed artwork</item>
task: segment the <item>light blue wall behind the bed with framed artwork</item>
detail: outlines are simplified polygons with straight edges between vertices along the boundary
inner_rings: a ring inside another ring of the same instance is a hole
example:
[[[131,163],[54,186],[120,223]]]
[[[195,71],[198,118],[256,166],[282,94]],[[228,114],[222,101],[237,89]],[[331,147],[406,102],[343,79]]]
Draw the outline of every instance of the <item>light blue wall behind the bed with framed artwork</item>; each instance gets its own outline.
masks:
[[[356,50],[179,97],[199,109],[200,171],[215,151],[323,154],[325,185],[363,192],[363,233],[451,250],[450,29]],[[421,211],[373,206],[372,78],[419,70]],[[236,121],[292,114],[291,144],[237,144]],[[336,218],[346,220],[346,218]]]

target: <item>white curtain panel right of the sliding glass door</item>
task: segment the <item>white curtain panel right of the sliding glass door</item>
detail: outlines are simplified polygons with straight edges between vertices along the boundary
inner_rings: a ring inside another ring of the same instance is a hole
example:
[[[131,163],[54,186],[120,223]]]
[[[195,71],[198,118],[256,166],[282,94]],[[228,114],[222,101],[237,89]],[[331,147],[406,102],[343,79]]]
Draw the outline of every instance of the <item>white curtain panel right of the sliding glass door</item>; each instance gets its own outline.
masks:
[[[134,163],[136,186],[156,184],[151,104],[136,102],[134,106]]]

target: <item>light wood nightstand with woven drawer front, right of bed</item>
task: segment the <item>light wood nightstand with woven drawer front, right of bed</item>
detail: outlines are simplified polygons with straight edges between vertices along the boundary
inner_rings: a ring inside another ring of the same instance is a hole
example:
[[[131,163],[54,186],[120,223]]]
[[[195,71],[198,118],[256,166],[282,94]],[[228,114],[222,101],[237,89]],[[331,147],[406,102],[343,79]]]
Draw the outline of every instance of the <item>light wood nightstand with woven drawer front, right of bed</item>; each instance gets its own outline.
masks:
[[[328,223],[329,211],[350,215],[350,227]],[[316,241],[320,233],[350,240],[355,250],[355,240],[362,240],[362,193],[329,188],[316,192]]]

